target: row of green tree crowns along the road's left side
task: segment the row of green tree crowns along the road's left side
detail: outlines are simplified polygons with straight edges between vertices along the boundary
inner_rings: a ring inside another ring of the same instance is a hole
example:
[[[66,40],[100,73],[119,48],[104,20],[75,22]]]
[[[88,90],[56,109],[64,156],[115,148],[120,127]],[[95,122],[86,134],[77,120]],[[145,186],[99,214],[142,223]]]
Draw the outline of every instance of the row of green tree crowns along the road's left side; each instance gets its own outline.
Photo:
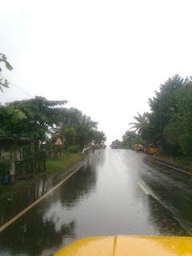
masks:
[[[64,100],[49,101],[35,97],[0,106],[0,135],[14,134],[53,145],[60,136],[64,142],[63,150],[70,150],[71,146],[82,150],[92,140],[98,143],[106,141],[105,134],[98,131],[98,122],[76,108],[64,107],[65,104]],[[17,110],[17,116],[12,110]],[[18,111],[22,117],[18,116]]]

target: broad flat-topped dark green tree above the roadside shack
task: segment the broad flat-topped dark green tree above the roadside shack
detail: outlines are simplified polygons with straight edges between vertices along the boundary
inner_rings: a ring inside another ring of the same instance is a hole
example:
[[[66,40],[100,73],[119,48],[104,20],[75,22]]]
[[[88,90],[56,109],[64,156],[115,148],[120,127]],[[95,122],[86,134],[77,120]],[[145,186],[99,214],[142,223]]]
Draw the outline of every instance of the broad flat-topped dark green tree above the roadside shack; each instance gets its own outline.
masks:
[[[45,140],[50,128],[54,128],[65,116],[66,109],[62,106],[66,101],[48,101],[46,98],[35,97],[29,100],[11,102],[6,109],[15,108],[22,111],[26,118],[20,122],[4,122],[1,130],[6,134],[17,134],[19,137]],[[60,106],[60,107],[59,107]]]

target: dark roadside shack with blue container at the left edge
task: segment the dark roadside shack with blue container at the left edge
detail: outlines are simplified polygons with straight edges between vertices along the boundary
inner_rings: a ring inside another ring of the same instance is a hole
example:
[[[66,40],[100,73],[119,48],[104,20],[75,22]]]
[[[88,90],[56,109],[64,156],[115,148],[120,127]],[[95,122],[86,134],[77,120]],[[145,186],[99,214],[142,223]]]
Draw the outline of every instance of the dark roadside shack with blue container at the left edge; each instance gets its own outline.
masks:
[[[0,136],[0,176],[10,175],[10,183],[23,173],[33,173],[32,140]]]

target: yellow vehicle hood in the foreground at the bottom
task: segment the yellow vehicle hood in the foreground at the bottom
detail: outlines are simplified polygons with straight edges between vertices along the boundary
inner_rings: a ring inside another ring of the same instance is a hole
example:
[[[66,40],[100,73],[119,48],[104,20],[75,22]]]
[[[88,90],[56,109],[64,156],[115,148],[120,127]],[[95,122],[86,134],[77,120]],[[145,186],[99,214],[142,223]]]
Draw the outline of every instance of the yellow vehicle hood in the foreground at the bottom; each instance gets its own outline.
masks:
[[[190,256],[192,238],[123,236],[83,238],[54,256]]]

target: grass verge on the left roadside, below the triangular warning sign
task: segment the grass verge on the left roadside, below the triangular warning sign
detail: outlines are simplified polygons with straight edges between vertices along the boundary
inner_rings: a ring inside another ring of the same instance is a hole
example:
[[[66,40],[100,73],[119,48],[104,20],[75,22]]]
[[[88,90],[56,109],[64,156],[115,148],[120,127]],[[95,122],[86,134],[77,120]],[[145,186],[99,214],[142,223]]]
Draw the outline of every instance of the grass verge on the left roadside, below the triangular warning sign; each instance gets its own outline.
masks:
[[[82,160],[85,154],[82,153],[66,153],[60,158],[47,158],[46,160],[46,172],[34,174],[33,178],[25,180],[18,180],[16,184],[7,184],[0,186],[0,198],[10,198],[13,194],[21,190],[26,190],[27,187],[31,186],[40,178],[49,178],[50,176],[58,173],[59,171],[65,170],[67,167],[74,163]]]

